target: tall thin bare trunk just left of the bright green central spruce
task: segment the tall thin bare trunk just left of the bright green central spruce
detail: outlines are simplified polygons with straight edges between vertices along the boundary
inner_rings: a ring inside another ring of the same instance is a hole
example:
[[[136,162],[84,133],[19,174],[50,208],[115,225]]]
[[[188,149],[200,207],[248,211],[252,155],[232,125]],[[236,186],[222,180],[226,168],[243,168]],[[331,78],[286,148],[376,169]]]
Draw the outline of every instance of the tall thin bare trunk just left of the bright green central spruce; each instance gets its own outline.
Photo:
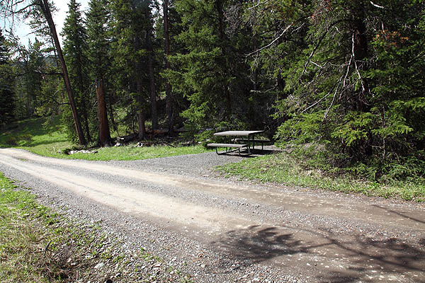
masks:
[[[165,52],[165,70],[171,69],[169,62],[170,55],[170,33],[169,33],[169,16],[168,16],[169,0],[162,2],[164,10],[164,52]],[[173,119],[173,98],[171,94],[171,86],[168,79],[165,79],[165,94],[166,94],[166,117],[168,120],[169,136],[174,135],[174,119]]]

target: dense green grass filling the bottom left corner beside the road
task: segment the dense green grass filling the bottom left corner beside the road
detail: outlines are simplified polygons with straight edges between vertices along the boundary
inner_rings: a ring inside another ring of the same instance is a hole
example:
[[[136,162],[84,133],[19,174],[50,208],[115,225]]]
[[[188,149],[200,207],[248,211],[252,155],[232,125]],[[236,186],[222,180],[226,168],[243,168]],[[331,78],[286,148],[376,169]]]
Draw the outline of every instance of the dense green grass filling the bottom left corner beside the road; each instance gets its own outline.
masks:
[[[0,282],[62,282],[69,273],[50,256],[64,240],[55,214],[14,189],[0,173]]]

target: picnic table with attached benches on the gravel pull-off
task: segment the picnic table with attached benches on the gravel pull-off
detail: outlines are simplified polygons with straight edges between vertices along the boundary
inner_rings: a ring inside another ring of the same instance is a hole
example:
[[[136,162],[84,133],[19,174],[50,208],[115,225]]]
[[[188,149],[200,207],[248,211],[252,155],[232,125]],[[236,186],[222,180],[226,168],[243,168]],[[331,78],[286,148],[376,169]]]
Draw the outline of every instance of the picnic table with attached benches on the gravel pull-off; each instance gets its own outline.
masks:
[[[222,136],[222,137],[227,137],[227,143],[222,143],[222,144],[217,144],[217,143],[212,143],[212,144],[207,144],[207,146],[209,147],[215,147],[215,152],[217,154],[218,150],[217,148],[223,147],[226,149],[225,152],[221,153],[221,154],[227,154],[229,152],[233,152],[233,151],[238,151],[239,155],[241,155],[241,149],[248,149],[248,155],[251,154],[254,151],[254,141],[256,141],[256,139],[254,139],[254,135],[255,134],[259,134],[261,132],[264,131],[225,131],[225,132],[216,132],[214,135],[215,136]],[[239,137],[236,139],[230,139],[230,137]],[[242,138],[242,137],[247,137],[247,138]],[[231,142],[233,141],[233,143]],[[234,142],[239,142],[239,141],[248,141],[246,144],[235,144]],[[252,144],[252,149],[251,149],[251,144]],[[261,149],[263,149],[263,146],[261,144]]]

